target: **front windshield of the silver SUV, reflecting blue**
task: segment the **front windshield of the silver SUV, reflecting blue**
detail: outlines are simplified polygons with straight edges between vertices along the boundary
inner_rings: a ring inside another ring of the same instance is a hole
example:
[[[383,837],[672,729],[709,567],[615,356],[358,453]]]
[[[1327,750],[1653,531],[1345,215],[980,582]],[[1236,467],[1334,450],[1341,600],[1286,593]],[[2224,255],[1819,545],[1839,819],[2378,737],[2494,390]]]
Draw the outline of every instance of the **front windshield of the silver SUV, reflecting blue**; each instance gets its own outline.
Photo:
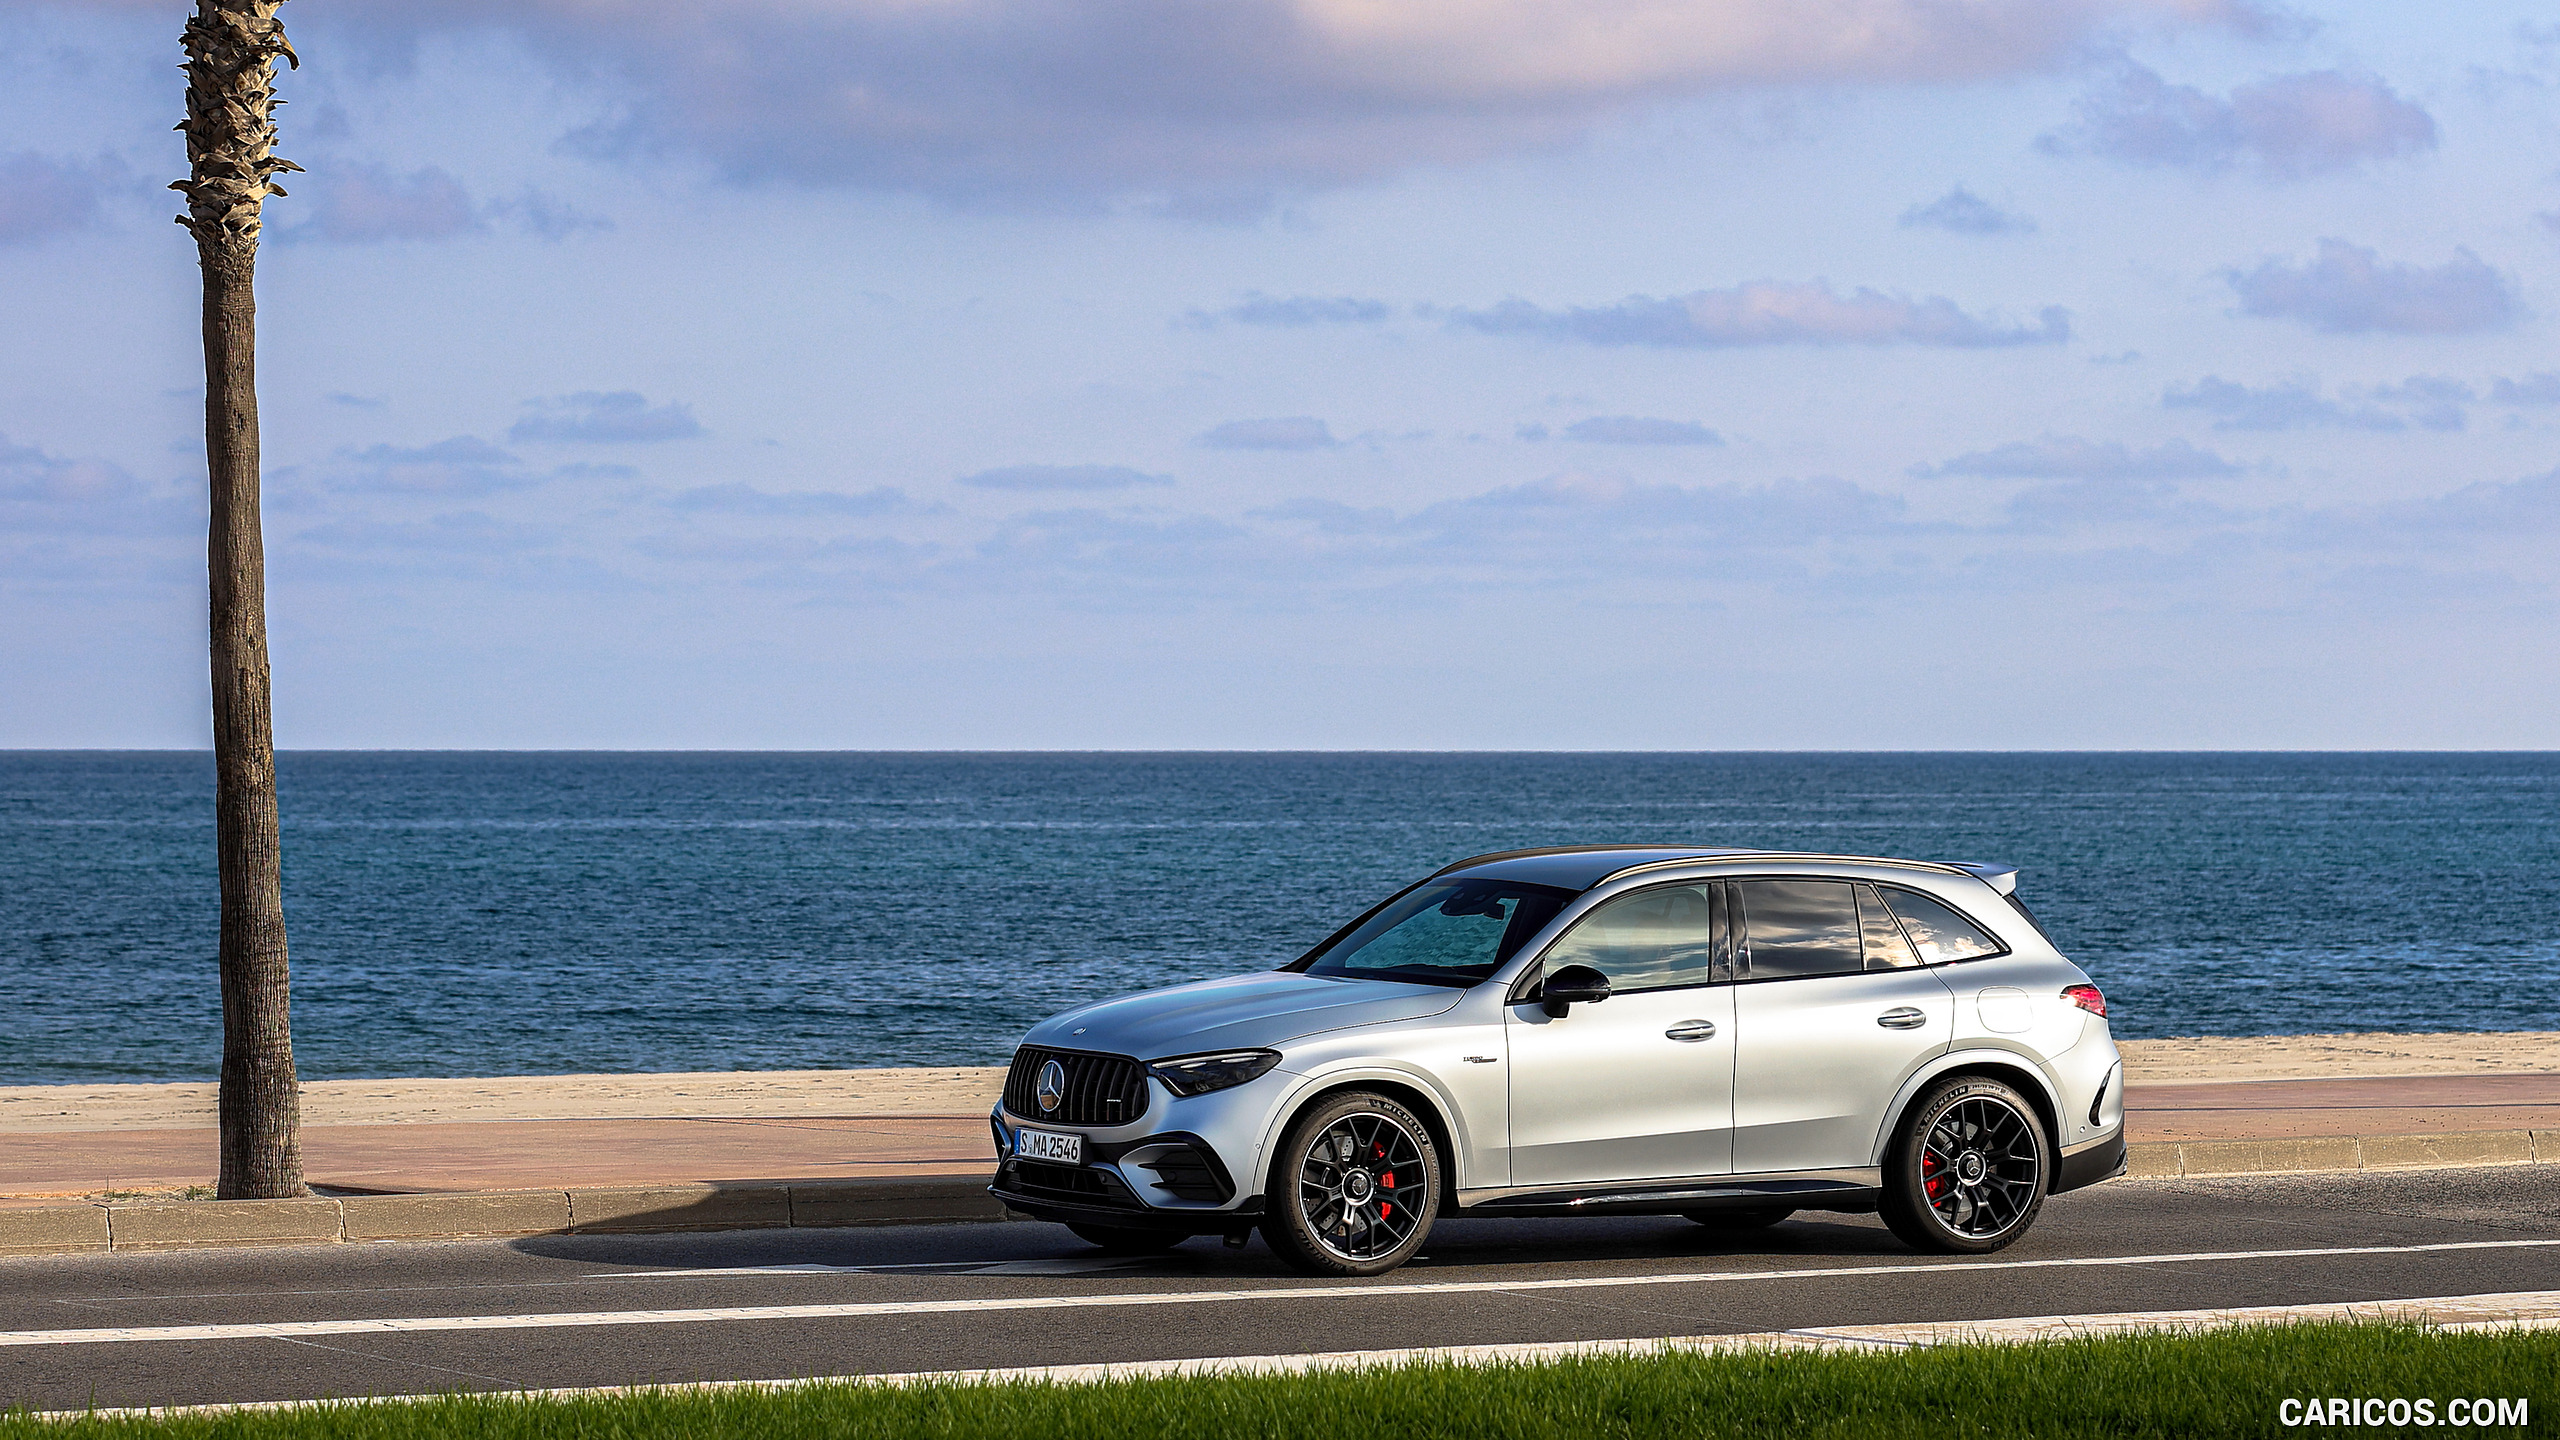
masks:
[[[1551,884],[1431,879],[1364,915],[1295,969],[1311,976],[1475,984],[1572,897]]]

